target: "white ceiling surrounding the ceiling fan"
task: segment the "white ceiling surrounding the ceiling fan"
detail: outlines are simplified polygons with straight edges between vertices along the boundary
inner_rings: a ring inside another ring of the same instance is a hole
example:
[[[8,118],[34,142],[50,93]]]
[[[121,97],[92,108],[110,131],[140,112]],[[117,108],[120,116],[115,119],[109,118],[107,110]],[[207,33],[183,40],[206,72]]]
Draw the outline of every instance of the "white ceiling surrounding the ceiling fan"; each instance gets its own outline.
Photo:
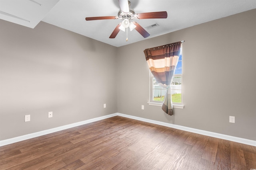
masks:
[[[7,1],[9,3],[6,3]],[[34,3],[31,3],[33,1]],[[39,10],[35,2],[48,8]],[[166,19],[136,20],[144,29],[154,23],[160,25],[146,29],[150,33],[148,38],[256,8],[256,0],[130,0],[130,2],[130,8],[133,8],[136,14],[167,11]],[[116,38],[110,39],[110,34],[121,20],[85,20],[86,17],[117,16],[119,9],[118,0],[0,0],[0,11],[8,11],[12,15],[14,13],[21,16],[20,18],[34,17],[39,21],[42,20],[116,47],[144,40],[144,37],[135,29],[128,31],[128,41],[123,31],[120,31]],[[44,18],[42,18],[43,15]],[[3,16],[0,13],[0,18],[6,20],[6,16],[5,18]],[[12,17],[9,16],[9,18]],[[19,19],[15,18],[15,20]],[[9,21],[25,25],[20,23],[21,21]]]

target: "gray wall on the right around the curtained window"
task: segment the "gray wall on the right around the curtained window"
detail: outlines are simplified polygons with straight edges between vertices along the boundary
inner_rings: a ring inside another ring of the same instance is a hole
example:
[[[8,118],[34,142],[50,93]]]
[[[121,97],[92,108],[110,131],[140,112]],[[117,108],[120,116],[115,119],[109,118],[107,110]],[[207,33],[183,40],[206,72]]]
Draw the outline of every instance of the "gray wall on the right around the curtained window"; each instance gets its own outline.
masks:
[[[118,112],[256,140],[255,16],[250,10],[119,47]],[[182,40],[184,109],[169,116],[147,104],[149,69],[143,51]],[[236,123],[229,123],[230,115]]]

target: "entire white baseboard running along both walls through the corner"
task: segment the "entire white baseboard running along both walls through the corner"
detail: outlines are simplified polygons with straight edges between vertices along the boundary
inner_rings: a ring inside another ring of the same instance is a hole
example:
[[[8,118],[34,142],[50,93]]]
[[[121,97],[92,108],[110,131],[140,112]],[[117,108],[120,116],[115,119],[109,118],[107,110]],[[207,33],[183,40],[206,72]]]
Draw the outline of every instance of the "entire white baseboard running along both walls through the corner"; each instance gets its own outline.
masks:
[[[122,113],[113,113],[113,114],[110,114],[110,115],[96,117],[96,118],[93,118],[93,119],[80,121],[80,122],[77,122],[77,123],[72,123],[72,124],[69,124],[69,125],[64,125],[64,126],[60,126],[60,127],[40,131],[40,132],[35,132],[35,133],[28,134],[28,135],[22,135],[22,136],[19,136],[19,137],[14,137],[14,138],[11,138],[11,139],[2,140],[2,141],[0,141],[0,147],[4,146],[4,145],[9,145],[9,144],[12,144],[12,143],[24,141],[24,140],[27,140],[27,139],[31,139],[31,138],[34,138],[34,137],[47,135],[47,134],[54,133],[54,132],[57,132],[57,131],[62,131],[62,130],[69,129],[69,128],[72,128],[72,127],[85,125],[87,123],[92,123],[94,121],[107,119],[107,118],[114,117],[114,116],[117,116],[117,115],[122,116],[122,117],[127,117],[127,118],[130,118],[130,119],[135,119],[135,120],[139,120],[139,121],[153,123],[153,124],[156,124],[156,125],[162,125],[162,126],[171,127],[171,128],[174,128],[174,129],[180,129],[180,130],[183,130],[183,131],[197,133],[197,134],[200,134],[200,135],[206,135],[206,136],[216,137],[216,138],[219,138],[219,139],[225,139],[225,140],[233,141],[233,142],[237,142],[237,143],[243,143],[243,144],[246,144],[246,145],[252,145],[252,146],[256,147],[256,141],[253,141],[253,140],[250,140],[250,139],[244,139],[244,138],[233,137],[233,136],[229,136],[229,135],[223,135],[223,134],[220,134],[220,133],[203,131],[203,130],[200,130],[200,129],[194,129],[194,128],[190,128],[190,127],[174,125],[174,124],[171,124],[171,123],[164,123],[164,122],[161,122],[161,121],[145,119],[145,118],[142,118],[142,117],[136,117],[136,116],[126,115],[126,114],[122,114]]]

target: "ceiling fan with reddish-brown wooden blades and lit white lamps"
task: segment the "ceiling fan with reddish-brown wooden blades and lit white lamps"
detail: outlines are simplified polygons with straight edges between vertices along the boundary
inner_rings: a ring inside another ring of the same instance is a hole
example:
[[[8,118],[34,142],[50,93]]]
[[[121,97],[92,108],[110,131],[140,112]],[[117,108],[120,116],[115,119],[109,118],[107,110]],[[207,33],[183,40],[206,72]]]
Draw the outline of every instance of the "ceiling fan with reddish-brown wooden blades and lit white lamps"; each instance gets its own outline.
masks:
[[[118,23],[112,34],[109,38],[115,38],[120,30],[126,31],[126,35],[128,33],[127,29],[130,28],[130,31],[136,29],[144,38],[148,37],[150,34],[137,22],[132,21],[133,19],[152,19],[152,18],[167,18],[167,12],[146,12],[136,14],[132,8],[129,8],[130,1],[128,0],[118,0],[120,10],[118,11],[118,16],[101,16],[101,17],[86,17],[86,21],[92,20],[122,20],[121,23]],[[128,38],[126,38],[126,41]]]

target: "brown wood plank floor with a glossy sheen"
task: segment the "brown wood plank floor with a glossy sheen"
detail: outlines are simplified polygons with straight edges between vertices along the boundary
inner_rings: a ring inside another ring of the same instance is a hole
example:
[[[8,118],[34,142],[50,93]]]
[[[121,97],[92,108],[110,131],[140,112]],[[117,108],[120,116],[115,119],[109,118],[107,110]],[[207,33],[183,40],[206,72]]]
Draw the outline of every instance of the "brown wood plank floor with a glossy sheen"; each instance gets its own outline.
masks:
[[[111,117],[0,147],[0,169],[250,170],[256,147]]]

